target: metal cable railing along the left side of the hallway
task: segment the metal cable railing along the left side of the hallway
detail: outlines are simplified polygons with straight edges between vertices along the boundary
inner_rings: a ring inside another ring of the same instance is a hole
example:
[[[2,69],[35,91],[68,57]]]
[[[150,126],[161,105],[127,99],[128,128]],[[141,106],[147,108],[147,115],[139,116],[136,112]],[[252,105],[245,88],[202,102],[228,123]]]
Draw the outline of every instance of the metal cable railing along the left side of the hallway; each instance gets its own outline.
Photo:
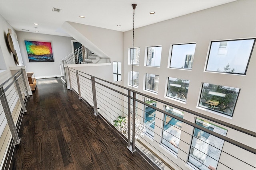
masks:
[[[7,160],[8,157],[12,158],[14,146],[20,143],[18,132],[23,113],[27,111],[28,97],[22,69],[0,85],[0,156],[2,160],[0,168],[9,167],[4,160]]]

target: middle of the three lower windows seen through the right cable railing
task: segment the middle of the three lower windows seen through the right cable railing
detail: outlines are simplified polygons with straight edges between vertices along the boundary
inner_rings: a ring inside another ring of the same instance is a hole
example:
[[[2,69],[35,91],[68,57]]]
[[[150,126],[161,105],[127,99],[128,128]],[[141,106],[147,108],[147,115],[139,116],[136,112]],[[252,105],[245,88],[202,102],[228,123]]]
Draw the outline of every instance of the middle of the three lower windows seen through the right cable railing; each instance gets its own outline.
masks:
[[[165,106],[165,111],[181,118],[183,118],[184,115],[182,111],[169,106]],[[164,115],[162,143],[176,153],[178,153],[178,147],[180,143],[181,127],[182,121],[174,119],[169,115]]]

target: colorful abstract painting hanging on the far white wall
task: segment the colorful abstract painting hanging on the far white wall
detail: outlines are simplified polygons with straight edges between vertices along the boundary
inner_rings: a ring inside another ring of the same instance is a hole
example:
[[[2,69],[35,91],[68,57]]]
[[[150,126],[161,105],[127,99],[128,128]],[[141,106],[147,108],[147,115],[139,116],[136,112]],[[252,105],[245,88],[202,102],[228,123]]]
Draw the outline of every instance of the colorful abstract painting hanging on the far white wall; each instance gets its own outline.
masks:
[[[51,43],[25,41],[25,45],[29,62],[54,62]]]

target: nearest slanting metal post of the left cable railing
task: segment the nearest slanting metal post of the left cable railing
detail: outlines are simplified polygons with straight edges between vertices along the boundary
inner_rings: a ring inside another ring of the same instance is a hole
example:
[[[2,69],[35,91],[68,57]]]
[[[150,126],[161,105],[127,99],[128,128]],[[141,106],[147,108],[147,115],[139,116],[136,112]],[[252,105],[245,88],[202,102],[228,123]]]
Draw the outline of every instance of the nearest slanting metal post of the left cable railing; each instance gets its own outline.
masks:
[[[18,132],[16,130],[14,121],[12,119],[12,113],[10,111],[10,107],[8,105],[8,101],[6,99],[6,95],[4,93],[4,88],[3,87],[0,90],[0,99],[1,99],[1,102],[2,102],[2,107],[4,109],[6,120],[8,122],[10,131],[12,133],[12,137],[13,137],[13,140],[14,140],[14,145],[18,145],[18,144],[20,144],[20,138],[18,136]]]

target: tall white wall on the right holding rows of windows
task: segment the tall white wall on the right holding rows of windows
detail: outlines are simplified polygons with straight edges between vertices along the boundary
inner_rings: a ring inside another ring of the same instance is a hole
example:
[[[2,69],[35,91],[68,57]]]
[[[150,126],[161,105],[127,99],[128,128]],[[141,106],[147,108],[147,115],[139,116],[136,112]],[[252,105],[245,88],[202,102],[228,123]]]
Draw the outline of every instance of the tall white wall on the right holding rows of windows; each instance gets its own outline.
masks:
[[[256,132],[256,114],[254,111],[254,105],[256,101],[256,48],[254,47],[254,51],[252,53],[245,76],[204,72],[210,41],[256,37],[255,8],[256,1],[235,1],[221,6],[216,6],[214,8],[209,8],[207,10],[202,10],[171,20],[162,21],[159,23],[135,29],[134,47],[140,47],[140,66],[134,66],[134,71],[139,72],[139,87],[136,90],[147,95],[159,98],[166,102],[170,102],[181,107],[186,107],[187,109],[196,111],[198,113],[202,113],[204,115],[208,115],[210,117],[226,121],[233,125],[237,125],[239,127]],[[132,47],[131,37],[132,31],[127,31],[124,33],[123,80],[124,86],[126,87],[129,87],[128,72],[132,70],[132,65],[128,65],[128,50]],[[170,45],[177,43],[193,42],[196,42],[196,51],[194,54],[194,63],[192,70],[168,68]],[[160,68],[144,66],[144,60],[146,59],[146,47],[158,45],[162,46],[162,58]],[[146,73],[160,75],[158,94],[153,94],[143,90],[145,87],[144,77]],[[167,85],[166,82],[168,80],[168,77],[190,80],[186,104],[165,97]],[[241,89],[233,117],[205,111],[197,107],[198,99],[200,97],[200,89],[203,82]],[[163,104],[158,103],[157,107],[163,109]],[[143,115],[143,113],[141,113],[141,115]],[[159,116],[161,119],[160,114],[157,113],[156,116]],[[156,119],[156,125],[162,125],[160,119]],[[194,122],[195,116],[191,115],[190,113],[185,113],[184,119]],[[182,127],[182,129],[184,128],[185,126]],[[191,128],[192,127],[186,130],[192,132],[193,129]],[[244,143],[250,147],[256,147],[255,138],[248,140],[242,135],[234,133],[232,129],[228,129],[229,131],[227,133],[227,137],[236,139],[239,142]],[[158,135],[161,135],[160,128],[155,128],[155,132],[158,133]],[[182,138],[190,143],[189,135]],[[158,139],[158,137],[156,137],[156,140],[159,141],[160,138]],[[180,147],[186,148],[185,145]],[[229,151],[231,150],[228,147],[226,147],[225,149]],[[189,148],[185,150],[187,150],[188,152]],[[178,154],[178,156],[182,157],[184,160],[187,159],[186,155],[184,156],[182,154]],[[248,156],[248,158],[251,157]],[[244,159],[246,160],[246,155]],[[180,161],[179,159],[173,160],[182,168],[188,169],[184,167],[184,162]],[[222,160],[222,162],[225,162],[225,160]]]

